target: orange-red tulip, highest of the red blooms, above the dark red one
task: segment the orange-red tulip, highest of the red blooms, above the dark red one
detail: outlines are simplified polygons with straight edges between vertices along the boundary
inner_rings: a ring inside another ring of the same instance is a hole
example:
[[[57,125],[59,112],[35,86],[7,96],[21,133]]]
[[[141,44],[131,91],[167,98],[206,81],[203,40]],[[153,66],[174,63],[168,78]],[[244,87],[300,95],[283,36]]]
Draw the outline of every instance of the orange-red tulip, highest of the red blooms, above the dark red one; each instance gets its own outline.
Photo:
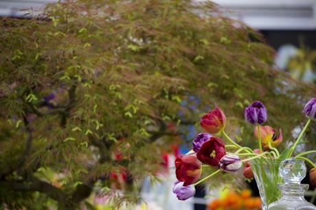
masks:
[[[226,126],[226,117],[221,108],[216,107],[210,113],[204,115],[200,121],[200,125],[204,130],[210,133],[221,132]]]

